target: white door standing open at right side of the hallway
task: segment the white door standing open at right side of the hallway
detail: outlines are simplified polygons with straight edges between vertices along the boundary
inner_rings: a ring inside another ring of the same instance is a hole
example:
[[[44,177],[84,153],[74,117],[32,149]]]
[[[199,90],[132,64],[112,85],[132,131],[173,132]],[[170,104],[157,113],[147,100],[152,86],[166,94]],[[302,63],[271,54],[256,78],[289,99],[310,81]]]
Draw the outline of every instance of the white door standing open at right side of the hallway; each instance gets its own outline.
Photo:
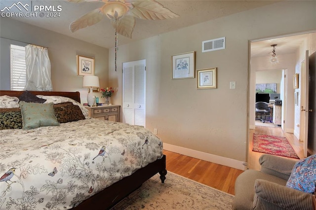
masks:
[[[308,110],[309,110],[309,51],[306,51],[305,62],[301,63],[301,130],[300,139],[304,142],[304,157],[307,157],[308,143]]]

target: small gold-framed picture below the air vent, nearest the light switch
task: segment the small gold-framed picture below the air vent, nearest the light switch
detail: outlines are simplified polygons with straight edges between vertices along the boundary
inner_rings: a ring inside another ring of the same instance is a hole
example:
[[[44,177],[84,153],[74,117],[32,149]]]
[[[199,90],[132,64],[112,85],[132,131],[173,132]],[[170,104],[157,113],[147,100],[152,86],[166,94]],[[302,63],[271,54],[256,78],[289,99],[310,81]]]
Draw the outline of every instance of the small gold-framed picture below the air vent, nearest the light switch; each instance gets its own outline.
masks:
[[[216,70],[217,68],[197,70],[197,89],[217,88]]]

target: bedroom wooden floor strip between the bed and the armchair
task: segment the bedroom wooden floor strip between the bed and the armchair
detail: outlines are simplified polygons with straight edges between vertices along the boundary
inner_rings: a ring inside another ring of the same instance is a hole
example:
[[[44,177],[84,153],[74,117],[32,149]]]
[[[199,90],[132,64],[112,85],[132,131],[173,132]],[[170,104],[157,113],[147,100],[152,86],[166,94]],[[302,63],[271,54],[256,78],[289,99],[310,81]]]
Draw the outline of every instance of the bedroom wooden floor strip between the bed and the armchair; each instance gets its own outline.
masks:
[[[235,180],[243,171],[167,150],[163,154],[167,171],[235,195]]]

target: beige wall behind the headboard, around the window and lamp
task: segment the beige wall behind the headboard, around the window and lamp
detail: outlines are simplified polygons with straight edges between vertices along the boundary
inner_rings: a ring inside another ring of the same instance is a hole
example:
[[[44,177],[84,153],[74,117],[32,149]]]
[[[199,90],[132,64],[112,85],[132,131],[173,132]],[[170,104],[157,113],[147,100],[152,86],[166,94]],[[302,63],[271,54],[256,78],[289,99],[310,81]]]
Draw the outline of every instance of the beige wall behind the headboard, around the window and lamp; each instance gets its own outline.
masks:
[[[108,85],[108,49],[9,18],[1,18],[0,27],[3,38],[48,47],[54,91],[80,91],[82,103],[86,102],[82,76],[77,75],[76,55],[95,58],[95,75],[99,76],[101,86]],[[3,70],[6,69],[1,64]]]

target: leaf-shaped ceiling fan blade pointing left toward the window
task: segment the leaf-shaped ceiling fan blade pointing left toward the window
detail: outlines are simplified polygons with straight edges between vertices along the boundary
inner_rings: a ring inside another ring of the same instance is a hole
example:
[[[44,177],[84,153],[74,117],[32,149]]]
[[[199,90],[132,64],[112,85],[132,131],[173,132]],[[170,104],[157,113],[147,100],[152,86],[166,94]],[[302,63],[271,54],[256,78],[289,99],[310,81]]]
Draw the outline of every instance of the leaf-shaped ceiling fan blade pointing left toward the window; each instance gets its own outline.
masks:
[[[79,19],[73,21],[70,24],[69,29],[71,32],[75,32],[79,29],[83,29],[85,27],[92,26],[98,23],[100,20],[102,20],[102,18],[103,13],[100,8],[97,8],[79,17]]]

